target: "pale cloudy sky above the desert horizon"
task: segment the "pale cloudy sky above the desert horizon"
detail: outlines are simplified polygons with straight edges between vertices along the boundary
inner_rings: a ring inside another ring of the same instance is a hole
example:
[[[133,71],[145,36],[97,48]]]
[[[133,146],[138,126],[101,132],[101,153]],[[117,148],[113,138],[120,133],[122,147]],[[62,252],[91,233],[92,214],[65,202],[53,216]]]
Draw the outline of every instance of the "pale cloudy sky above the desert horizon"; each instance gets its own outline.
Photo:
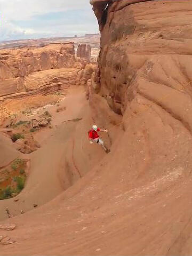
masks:
[[[89,0],[0,0],[0,41],[98,33]]]

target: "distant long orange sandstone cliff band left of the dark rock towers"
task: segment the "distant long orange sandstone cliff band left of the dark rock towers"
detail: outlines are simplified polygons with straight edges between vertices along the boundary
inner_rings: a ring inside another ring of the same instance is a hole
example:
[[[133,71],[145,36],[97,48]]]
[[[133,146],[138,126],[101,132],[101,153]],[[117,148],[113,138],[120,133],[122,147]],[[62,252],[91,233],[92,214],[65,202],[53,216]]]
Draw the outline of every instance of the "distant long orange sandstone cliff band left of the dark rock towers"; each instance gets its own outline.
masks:
[[[73,43],[1,50],[0,98],[38,90],[39,87],[43,86],[43,83],[46,85],[45,87],[50,87],[56,83],[62,89],[63,81],[67,83],[75,80],[75,69],[69,70],[68,76],[66,76],[67,70],[63,70],[73,68],[75,62]],[[59,69],[62,69],[62,72]],[[48,73],[47,70],[49,70]],[[65,76],[62,76],[63,71]],[[75,73],[71,73],[71,71]],[[61,79],[58,74],[62,77]],[[34,78],[36,79],[34,80]],[[55,86],[54,90],[57,89],[59,87]]]

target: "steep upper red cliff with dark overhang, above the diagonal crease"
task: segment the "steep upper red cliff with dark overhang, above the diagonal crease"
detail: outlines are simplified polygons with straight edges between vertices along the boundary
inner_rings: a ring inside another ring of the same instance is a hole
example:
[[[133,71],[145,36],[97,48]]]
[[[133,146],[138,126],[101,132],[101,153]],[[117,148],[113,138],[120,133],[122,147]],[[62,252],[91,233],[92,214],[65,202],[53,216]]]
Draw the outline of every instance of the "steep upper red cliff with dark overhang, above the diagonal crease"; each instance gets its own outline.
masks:
[[[188,123],[189,115],[170,101],[177,97],[191,107],[192,18],[188,15],[186,21],[185,15],[192,11],[191,1],[184,1],[185,9],[183,1],[171,0],[91,2],[102,17],[100,92],[111,107],[123,114],[133,99],[147,98],[185,116]]]

